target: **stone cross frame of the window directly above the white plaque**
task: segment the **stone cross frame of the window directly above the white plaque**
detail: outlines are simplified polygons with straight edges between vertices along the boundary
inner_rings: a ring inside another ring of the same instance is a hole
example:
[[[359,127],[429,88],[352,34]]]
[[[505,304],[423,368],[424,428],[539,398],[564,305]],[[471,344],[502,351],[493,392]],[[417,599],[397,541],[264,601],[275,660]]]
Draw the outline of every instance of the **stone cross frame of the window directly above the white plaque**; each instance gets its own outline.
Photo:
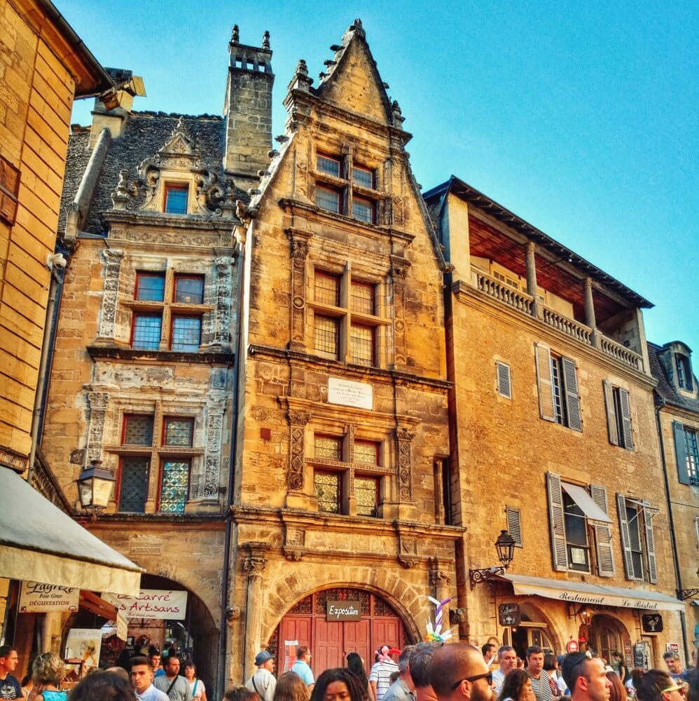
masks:
[[[350,266],[350,264],[337,264],[333,261],[315,261],[310,256],[309,273],[305,289],[307,325],[306,325],[306,347],[314,355],[321,355],[315,350],[315,315],[324,318],[337,320],[338,341],[336,358],[322,356],[328,360],[336,360],[345,365],[361,365],[361,367],[385,368],[389,364],[389,353],[387,344],[389,342],[389,328],[392,320],[389,318],[389,305],[386,304],[387,283],[385,278],[368,271],[360,266]],[[328,304],[316,301],[315,280],[316,273],[331,275],[338,279],[340,294],[339,305]],[[375,313],[367,314],[359,311],[352,311],[352,285],[369,285],[374,290]],[[371,362],[360,362],[352,355],[352,329],[353,328],[373,329],[373,353]]]

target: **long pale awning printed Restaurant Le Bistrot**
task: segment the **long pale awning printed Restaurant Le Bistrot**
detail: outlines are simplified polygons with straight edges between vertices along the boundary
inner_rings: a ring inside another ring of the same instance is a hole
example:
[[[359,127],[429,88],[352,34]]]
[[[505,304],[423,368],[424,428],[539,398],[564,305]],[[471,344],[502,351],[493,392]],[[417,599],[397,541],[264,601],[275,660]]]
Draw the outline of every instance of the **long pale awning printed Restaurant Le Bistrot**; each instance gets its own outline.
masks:
[[[501,578],[512,583],[515,594],[557,599],[567,604],[592,604],[593,606],[620,606],[642,611],[684,611],[684,602],[660,592],[640,589],[621,589],[602,584],[568,582],[560,579],[525,577],[504,574]]]

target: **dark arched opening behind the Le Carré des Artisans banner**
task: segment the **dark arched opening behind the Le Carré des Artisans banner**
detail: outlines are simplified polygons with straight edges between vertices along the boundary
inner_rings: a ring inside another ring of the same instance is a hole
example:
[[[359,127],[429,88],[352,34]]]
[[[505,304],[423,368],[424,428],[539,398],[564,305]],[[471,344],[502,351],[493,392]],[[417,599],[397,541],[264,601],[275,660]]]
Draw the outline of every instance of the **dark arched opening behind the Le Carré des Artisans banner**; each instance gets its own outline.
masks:
[[[158,648],[177,641],[181,659],[193,660],[197,673],[209,688],[216,686],[218,669],[219,629],[206,604],[194,592],[174,580],[153,574],[141,576],[141,590],[174,590],[187,592],[187,608],[181,620],[148,620],[129,618],[128,635]]]

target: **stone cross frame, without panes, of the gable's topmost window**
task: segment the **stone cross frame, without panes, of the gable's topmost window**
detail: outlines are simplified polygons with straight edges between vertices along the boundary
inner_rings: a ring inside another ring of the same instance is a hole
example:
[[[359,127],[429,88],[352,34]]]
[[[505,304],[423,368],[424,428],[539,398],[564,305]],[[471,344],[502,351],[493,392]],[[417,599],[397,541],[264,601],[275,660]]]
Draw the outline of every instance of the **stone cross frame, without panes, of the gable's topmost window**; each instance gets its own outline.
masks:
[[[319,168],[319,157],[338,163],[338,175]],[[338,214],[352,219],[353,222],[360,222],[368,226],[375,226],[380,222],[381,203],[385,199],[385,193],[382,191],[380,163],[376,162],[375,158],[354,147],[338,148],[331,144],[313,144],[312,163],[310,174],[312,175],[311,199],[313,202],[317,204],[315,197],[317,188],[335,191],[339,196],[338,211],[335,212],[317,205],[319,210]],[[360,182],[360,179],[355,178],[355,171],[371,173],[372,186],[367,186]],[[371,221],[367,222],[366,219],[355,216],[355,196],[358,200],[370,203]]]

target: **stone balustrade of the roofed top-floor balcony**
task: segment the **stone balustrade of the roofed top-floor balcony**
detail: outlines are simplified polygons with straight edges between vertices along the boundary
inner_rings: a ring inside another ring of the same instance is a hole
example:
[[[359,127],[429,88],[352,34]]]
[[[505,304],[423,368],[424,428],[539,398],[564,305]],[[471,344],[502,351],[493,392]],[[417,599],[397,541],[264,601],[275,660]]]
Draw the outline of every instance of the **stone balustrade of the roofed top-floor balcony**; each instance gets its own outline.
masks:
[[[484,292],[489,297],[493,297],[518,311],[532,315],[534,298],[530,294],[515,290],[510,285],[496,280],[495,278],[491,278],[490,275],[486,275],[478,268],[471,268],[471,273],[473,285],[476,286],[477,290]],[[593,329],[589,326],[581,324],[574,319],[570,319],[557,311],[553,311],[553,309],[549,307],[542,305],[541,308],[543,310],[541,320],[547,326],[551,326],[562,334],[571,336],[580,343],[594,346],[602,351],[604,355],[609,355],[609,357],[614,358],[614,360],[620,362],[622,365],[628,365],[628,367],[642,372],[643,358],[639,353],[622,346],[621,343],[612,341],[607,336],[603,336],[599,329],[593,332]]]

